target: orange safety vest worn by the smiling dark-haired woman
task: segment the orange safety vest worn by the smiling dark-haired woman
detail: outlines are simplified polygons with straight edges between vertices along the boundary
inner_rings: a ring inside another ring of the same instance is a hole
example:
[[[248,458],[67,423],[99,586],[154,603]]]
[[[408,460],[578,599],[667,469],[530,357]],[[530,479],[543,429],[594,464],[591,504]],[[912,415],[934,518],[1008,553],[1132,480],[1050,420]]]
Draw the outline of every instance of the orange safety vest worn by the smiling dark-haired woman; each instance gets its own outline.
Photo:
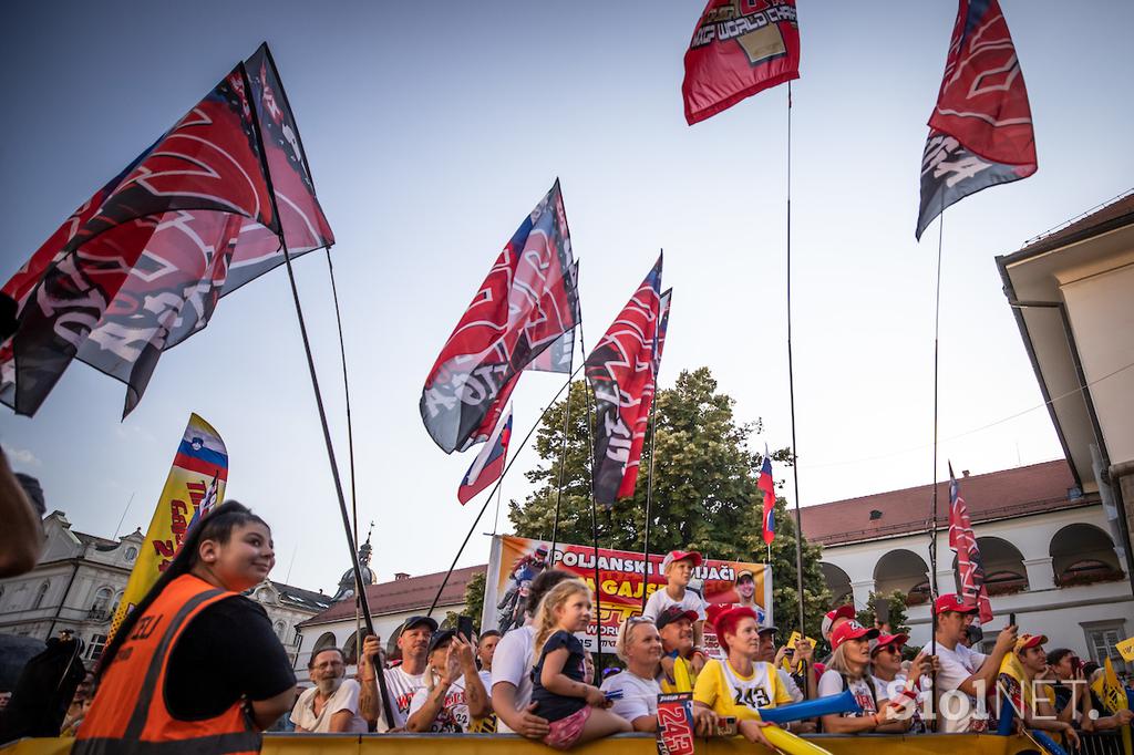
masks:
[[[71,754],[259,753],[261,735],[242,701],[204,721],[179,721],[166,707],[169,656],[181,633],[205,608],[236,594],[188,574],[169,583],[102,675]]]

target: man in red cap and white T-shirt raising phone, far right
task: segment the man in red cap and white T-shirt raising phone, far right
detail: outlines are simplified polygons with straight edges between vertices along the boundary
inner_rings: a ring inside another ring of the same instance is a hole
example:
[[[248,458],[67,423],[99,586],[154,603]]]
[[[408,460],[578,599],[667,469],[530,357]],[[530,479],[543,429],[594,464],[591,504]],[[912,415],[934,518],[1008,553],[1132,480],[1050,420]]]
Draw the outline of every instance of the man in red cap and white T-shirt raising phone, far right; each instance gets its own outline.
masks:
[[[954,593],[941,595],[933,602],[939,664],[933,682],[933,711],[938,720],[937,730],[942,733],[985,730],[983,714],[974,714],[978,698],[980,709],[984,710],[984,696],[996,689],[1000,663],[1016,645],[1016,627],[1008,626],[997,636],[991,655],[965,647],[960,639],[979,610]]]

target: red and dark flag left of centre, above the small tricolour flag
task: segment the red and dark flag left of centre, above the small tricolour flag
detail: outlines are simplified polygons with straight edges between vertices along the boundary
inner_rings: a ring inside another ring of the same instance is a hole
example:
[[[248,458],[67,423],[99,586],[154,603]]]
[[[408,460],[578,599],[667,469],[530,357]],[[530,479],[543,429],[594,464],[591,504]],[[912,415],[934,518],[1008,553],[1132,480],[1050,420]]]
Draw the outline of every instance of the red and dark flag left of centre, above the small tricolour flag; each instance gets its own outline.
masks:
[[[578,324],[575,272],[557,180],[497,257],[425,379],[422,421],[446,453],[485,440],[519,373]]]

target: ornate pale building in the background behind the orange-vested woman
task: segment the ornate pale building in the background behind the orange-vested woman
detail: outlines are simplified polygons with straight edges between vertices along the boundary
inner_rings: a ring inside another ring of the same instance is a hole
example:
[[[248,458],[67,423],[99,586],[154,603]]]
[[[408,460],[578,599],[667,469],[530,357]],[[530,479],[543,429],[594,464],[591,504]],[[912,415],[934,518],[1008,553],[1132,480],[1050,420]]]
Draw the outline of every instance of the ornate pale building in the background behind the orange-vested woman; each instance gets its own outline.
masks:
[[[62,511],[43,519],[46,540],[34,569],[0,579],[0,634],[46,641],[70,629],[83,642],[91,665],[107,645],[110,618],[126,589],[144,537],[141,529],[110,540],[71,529]],[[248,591],[268,613],[294,662],[299,652],[297,625],[331,605],[331,599],[278,582]]]

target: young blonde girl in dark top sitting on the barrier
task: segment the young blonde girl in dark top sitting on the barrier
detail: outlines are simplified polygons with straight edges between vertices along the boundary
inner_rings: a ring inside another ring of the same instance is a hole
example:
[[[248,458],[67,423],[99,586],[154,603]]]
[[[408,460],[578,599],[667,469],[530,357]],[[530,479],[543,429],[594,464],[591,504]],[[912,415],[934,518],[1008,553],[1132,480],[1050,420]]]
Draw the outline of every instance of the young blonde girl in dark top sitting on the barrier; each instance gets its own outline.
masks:
[[[610,702],[585,681],[585,651],[575,633],[590,623],[591,591],[582,579],[552,587],[535,612],[539,660],[532,669],[532,702],[551,727],[543,744],[556,749],[633,730],[628,721],[606,710]]]

